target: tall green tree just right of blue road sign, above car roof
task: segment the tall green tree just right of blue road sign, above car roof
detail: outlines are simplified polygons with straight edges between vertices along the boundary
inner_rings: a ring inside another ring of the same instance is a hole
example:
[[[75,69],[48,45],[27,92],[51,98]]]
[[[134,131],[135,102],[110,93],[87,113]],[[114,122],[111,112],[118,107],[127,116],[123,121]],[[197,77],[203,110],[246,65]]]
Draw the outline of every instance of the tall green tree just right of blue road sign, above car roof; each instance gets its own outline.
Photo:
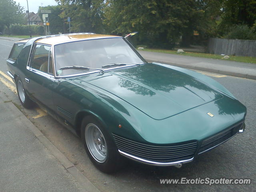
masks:
[[[72,32],[104,32],[102,6],[104,0],[57,0],[62,6],[60,17],[71,18]]]

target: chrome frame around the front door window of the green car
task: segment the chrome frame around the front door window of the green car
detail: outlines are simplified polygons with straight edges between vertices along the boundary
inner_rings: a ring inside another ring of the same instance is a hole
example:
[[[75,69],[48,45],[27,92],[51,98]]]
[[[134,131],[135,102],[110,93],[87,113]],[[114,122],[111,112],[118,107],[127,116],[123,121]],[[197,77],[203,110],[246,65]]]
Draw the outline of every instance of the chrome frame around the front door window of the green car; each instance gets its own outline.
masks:
[[[34,54],[34,49],[36,48],[36,45],[43,45],[43,46],[49,46],[50,49],[52,49],[52,45],[49,45],[49,44],[43,44],[43,43],[34,43],[31,45],[31,48],[30,48],[30,55],[29,55],[29,58],[28,58],[28,63],[27,63],[27,70],[31,71],[31,72],[34,72],[38,75],[41,75],[41,76],[44,76],[46,78],[50,78],[52,80],[55,80],[55,76],[54,75],[51,75],[51,74],[48,74],[46,72],[42,72],[40,70],[37,70],[37,69],[34,69],[32,67],[30,67],[30,64],[31,64],[31,60],[32,60],[32,56]],[[49,50],[49,53],[48,53],[48,70],[49,70],[49,54],[50,54],[50,50]]]

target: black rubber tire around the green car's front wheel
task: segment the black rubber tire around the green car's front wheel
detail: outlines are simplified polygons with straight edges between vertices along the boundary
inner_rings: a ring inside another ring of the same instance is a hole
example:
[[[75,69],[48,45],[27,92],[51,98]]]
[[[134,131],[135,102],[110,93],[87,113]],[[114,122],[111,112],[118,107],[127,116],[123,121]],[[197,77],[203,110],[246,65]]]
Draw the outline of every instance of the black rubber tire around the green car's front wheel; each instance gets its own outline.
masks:
[[[106,153],[107,155],[106,155],[106,160],[104,162],[98,162],[95,159],[95,157],[91,154],[90,149],[86,143],[85,132],[86,132],[86,126],[88,126],[89,124],[96,125],[100,129],[102,135],[104,136],[104,140],[105,140],[106,146],[107,146],[107,153]],[[88,154],[91,162],[100,171],[105,172],[105,173],[113,173],[113,172],[116,172],[122,166],[122,157],[119,154],[116,144],[114,143],[111,135],[102,126],[102,124],[93,116],[86,116],[82,120],[81,139],[84,144],[86,153]]]

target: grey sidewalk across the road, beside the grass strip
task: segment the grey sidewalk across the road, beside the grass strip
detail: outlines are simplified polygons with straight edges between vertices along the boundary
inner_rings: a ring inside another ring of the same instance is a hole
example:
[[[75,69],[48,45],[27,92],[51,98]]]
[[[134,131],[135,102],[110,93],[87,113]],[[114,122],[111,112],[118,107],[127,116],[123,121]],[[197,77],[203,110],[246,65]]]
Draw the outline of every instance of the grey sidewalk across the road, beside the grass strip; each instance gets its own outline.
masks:
[[[256,64],[236,61],[139,51],[148,62],[159,62],[183,68],[256,79]]]

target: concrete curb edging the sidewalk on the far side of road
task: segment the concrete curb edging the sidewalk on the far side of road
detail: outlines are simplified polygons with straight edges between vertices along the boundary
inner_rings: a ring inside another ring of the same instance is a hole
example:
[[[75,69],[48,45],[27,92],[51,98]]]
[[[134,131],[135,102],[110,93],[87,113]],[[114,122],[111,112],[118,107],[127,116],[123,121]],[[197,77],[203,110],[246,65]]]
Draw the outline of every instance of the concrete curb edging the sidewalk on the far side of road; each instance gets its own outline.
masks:
[[[169,64],[169,65],[182,67],[182,68],[188,68],[188,69],[194,69],[194,70],[200,70],[200,71],[206,71],[206,72],[212,72],[212,73],[218,73],[218,74],[223,74],[223,75],[230,75],[230,76],[235,76],[235,77],[242,77],[242,78],[256,80],[256,75],[251,75],[251,74],[243,74],[243,73],[237,73],[237,72],[230,72],[230,71],[224,71],[224,70],[218,70],[218,69],[212,69],[212,68],[198,67],[198,66],[157,61],[157,60],[149,60],[149,59],[146,59],[146,60],[148,62],[158,62],[158,63]]]

